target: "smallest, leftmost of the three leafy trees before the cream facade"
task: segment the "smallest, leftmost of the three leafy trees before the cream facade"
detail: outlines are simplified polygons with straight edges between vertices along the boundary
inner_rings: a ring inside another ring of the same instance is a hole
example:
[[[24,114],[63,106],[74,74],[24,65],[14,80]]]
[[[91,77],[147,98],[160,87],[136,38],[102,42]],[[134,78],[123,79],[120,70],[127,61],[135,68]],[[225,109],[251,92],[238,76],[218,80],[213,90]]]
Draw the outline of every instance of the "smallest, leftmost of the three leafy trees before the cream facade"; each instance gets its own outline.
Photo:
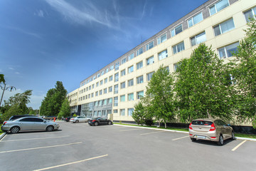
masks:
[[[168,68],[160,66],[146,86],[146,95],[142,98],[146,113],[151,118],[164,122],[174,119],[174,78]]]

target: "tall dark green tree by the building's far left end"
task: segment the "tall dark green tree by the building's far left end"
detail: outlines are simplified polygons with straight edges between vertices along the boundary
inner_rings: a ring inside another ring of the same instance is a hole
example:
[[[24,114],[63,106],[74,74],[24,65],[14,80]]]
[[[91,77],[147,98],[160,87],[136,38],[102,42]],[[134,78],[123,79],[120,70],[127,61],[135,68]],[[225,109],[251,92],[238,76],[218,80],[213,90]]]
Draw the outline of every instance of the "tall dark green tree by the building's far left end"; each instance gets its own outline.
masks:
[[[68,92],[65,90],[63,83],[61,81],[57,81],[55,88],[48,90],[46,97],[41,103],[41,115],[58,115],[67,93]]]

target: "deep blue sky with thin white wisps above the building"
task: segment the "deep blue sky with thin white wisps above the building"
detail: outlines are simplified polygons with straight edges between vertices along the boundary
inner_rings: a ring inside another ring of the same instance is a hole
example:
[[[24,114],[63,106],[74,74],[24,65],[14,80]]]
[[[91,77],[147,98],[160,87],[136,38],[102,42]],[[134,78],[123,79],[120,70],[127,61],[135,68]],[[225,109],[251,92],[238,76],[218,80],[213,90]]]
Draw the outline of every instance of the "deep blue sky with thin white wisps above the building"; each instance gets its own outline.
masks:
[[[0,0],[0,73],[16,88],[1,105],[33,90],[28,107],[38,109],[57,81],[70,93],[206,1]]]

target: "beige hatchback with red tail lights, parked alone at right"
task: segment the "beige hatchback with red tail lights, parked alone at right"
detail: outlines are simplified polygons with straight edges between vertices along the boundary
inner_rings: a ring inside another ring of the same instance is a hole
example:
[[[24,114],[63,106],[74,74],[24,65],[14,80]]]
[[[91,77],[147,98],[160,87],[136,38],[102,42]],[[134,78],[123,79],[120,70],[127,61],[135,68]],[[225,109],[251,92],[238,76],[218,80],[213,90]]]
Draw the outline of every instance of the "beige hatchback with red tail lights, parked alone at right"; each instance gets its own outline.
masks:
[[[224,140],[235,140],[233,128],[219,119],[197,119],[189,125],[189,137],[192,141],[210,140],[223,145]]]

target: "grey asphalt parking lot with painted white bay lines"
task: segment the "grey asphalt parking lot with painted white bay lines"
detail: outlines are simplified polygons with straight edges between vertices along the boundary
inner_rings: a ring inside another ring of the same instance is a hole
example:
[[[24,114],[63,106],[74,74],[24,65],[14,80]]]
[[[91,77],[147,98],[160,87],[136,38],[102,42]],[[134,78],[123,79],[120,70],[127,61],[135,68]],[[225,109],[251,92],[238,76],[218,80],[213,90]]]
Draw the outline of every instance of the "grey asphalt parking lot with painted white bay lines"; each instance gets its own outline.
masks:
[[[256,170],[256,142],[191,142],[188,133],[60,123],[60,130],[7,134],[0,170]]]

